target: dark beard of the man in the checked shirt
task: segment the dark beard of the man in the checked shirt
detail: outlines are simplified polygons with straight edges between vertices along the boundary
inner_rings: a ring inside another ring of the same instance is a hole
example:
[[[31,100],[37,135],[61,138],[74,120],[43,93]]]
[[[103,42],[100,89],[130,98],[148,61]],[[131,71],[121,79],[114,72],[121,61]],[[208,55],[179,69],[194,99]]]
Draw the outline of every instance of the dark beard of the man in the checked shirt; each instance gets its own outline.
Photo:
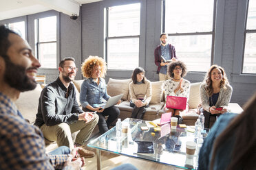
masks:
[[[36,81],[30,79],[30,77],[28,77],[28,75],[25,73],[25,71],[28,69],[37,69],[36,67],[25,69],[25,67],[11,62],[9,56],[7,55],[3,55],[3,59],[6,62],[6,71],[3,75],[3,80],[10,87],[16,88],[21,92],[36,88]]]

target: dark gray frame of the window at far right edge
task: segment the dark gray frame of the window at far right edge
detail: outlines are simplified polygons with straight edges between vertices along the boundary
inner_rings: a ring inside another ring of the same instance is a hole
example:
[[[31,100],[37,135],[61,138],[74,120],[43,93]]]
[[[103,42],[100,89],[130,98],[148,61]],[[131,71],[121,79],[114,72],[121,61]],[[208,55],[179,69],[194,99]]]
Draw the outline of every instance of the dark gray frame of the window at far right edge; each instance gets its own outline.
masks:
[[[233,82],[239,83],[256,83],[256,74],[242,73],[244,64],[244,49],[246,39],[246,21],[248,13],[248,0],[238,1],[237,5],[237,22],[235,31],[235,47],[233,62]]]

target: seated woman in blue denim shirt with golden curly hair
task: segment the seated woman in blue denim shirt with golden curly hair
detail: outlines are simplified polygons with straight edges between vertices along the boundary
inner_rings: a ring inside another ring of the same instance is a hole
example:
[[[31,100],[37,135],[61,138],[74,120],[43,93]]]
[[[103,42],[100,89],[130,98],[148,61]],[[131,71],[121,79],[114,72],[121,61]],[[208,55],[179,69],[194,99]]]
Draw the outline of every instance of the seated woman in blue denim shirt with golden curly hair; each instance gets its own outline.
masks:
[[[106,83],[103,77],[107,71],[107,64],[103,58],[89,56],[82,64],[83,76],[87,79],[81,85],[80,102],[85,111],[96,111],[99,117],[98,128],[100,134],[109,130],[109,125],[115,121],[120,110],[115,106],[103,109],[102,106],[109,99]],[[104,100],[105,99],[105,100]],[[120,101],[118,101],[120,104]],[[108,116],[105,121],[105,116]]]

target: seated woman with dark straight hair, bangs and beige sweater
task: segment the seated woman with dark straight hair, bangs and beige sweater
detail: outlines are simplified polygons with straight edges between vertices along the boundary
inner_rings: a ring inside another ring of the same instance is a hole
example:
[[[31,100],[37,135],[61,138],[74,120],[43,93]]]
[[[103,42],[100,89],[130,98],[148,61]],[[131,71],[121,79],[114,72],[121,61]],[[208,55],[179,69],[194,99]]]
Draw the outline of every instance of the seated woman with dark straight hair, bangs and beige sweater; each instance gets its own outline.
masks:
[[[134,108],[131,118],[143,119],[149,101],[151,100],[151,82],[145,77],[145,70],[141,67],[134,69],[131,75],[132,82],[129,84],[131,95],[130,106]]]

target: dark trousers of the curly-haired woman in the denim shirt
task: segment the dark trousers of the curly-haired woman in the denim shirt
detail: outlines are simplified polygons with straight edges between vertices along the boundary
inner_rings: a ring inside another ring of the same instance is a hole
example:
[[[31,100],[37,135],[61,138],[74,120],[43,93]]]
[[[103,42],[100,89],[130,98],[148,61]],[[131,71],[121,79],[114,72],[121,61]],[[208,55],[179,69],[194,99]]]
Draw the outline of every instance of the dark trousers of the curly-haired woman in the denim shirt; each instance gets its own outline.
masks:
[[[87,108],[83,108],[85,112],[92,112],[92,110],[89,110]],[[103,112],[97,112],[98,114],[98,130],[100,130],[100,134],[104,134],[109,130],[109,125],[114,122],[120,114],[119,108],[116,108],[116,106],[111,106],[109,108],[105,108]],[[105,117],[108,116],[107,121],[105,120]]]

